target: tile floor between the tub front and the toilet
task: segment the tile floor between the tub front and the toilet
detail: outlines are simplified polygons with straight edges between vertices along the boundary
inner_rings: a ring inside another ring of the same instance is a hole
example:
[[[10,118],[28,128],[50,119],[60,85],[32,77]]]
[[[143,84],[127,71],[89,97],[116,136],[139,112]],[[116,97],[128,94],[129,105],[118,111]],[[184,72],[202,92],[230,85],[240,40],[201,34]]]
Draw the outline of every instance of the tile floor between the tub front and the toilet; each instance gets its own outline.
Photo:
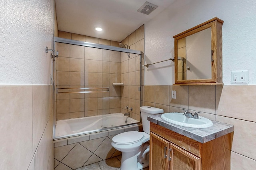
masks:
[[[76,170],[120,170],[120,165],[121,155],[77,168]],[[148,167],[143,170],[148,170]]]

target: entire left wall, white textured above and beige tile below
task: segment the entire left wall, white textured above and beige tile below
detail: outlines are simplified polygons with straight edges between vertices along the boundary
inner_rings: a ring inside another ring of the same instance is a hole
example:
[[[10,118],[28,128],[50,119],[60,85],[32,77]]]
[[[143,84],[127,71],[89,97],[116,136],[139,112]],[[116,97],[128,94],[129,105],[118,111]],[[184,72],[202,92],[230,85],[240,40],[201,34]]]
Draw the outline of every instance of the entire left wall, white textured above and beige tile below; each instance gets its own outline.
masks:
[[[54,0],[0,4],[1,168],[53,170],[52,59],[45,47],[52,48]]]

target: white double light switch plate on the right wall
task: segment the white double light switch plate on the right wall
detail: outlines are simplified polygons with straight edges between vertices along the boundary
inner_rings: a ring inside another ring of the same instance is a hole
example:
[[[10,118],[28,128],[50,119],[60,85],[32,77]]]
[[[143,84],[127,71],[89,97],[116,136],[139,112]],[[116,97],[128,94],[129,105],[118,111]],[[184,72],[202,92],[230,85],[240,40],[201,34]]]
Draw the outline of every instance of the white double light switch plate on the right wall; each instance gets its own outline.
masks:
[[[231,84],[248,84],[248,70],[231,71]]]

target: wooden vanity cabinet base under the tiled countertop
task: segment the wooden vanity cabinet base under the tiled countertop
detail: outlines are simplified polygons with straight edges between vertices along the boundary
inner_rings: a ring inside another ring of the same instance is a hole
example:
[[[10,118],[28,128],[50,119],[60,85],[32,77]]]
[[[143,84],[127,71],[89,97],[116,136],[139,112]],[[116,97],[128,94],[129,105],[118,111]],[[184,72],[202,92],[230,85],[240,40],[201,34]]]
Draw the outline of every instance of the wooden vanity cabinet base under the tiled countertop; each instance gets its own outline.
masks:
[[[150,170],[230,170],[230,133],[200,143],[150,122]]]

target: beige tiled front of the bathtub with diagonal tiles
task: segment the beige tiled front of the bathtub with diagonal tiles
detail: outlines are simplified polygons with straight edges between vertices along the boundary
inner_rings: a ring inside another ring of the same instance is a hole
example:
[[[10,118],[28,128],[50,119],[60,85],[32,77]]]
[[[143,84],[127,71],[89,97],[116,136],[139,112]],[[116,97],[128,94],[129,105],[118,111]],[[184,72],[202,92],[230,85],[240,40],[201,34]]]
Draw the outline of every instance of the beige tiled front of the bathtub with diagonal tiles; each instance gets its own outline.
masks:
[[[133,125],[54,141],[54,170],[80,168],[122,154],[111,145],[112,138],[123,132],[141,129]]]

